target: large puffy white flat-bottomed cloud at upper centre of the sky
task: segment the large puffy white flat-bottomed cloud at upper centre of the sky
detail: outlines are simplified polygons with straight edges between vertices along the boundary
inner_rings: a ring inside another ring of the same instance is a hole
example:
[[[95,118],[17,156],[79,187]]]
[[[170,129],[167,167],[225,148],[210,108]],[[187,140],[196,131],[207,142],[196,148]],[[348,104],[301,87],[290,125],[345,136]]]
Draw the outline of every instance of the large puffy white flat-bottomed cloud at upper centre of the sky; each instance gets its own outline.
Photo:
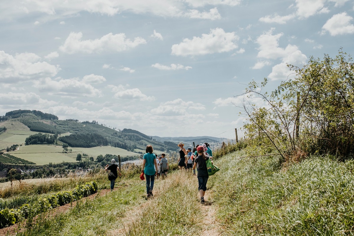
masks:
[[[177,56],[196,56],[212,53],[229,52],[238,47],[239,37],[235,32],[225,33],[221,28],[211,29],[209,34],[201,37],[183,39],[179,44],[172,45],[171,54]]]

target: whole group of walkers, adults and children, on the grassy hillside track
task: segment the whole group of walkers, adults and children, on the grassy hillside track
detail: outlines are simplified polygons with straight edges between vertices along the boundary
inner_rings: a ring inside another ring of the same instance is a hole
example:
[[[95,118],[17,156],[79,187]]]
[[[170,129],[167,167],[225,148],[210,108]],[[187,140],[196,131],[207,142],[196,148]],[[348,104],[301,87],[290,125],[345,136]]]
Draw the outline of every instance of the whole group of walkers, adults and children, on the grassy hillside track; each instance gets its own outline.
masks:
[[[178,159],[178,167],[180,170],[187,170],[189,173],[195,175],[195,169],[197,169],[198,174],[198,190],[200,194],[200,202],[204,203],[204,195],[206,191],[206,183],[209,178],[209,174],[206,167],[206,161],[208,159],[212,160],[212,151],[210,149],[210,145],[208,143],[204,143],[202,145],[196,145],[195,148],[184,148],[183,143],[178,144],[179,150],[179,159]],[[169,169],[169,163],[166,159],[166,155],[164,153],[158,157],[153,153],[152,145],[146,146],[146,153],[143,156],[143,166],[141,172],[145,174],[146,179],[146,192],[147,198],[154,196],[154,181],[155,176],[159,178],[161,175],[162,178],[167,176],[167,172]],[[112,165],[105,166],[105,170],[110,170],[115,175],[115,178],[121,175],[120,169],[118,165],[116,165],[115,160],[112,159]],[[111,180],[111,191],[114,188],[115,178]]]

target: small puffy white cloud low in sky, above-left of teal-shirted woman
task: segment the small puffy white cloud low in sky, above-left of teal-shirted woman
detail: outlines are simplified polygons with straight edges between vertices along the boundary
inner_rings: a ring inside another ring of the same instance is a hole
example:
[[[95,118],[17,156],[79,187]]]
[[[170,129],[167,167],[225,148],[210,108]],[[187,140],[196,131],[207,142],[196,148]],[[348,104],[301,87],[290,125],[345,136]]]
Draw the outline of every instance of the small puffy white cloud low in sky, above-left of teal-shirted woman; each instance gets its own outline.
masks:
[[[126,85],[129,86],[129,85]],[[115,85],[109,85],[109,88],[114,94],[114,98],[121,98],[121,99],[137,99],[140,101],[154,101],[155,97],[154,96],[146,96],[143,94],[138,88],[132,88],[132,89],[127,89],[123,85],[115,86]]]

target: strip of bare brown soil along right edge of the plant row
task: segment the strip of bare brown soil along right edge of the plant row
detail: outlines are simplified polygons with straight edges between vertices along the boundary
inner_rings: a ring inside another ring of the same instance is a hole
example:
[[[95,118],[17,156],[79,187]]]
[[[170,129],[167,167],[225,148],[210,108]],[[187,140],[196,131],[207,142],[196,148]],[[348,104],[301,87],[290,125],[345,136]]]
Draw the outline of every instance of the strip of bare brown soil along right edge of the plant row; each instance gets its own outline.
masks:
[[[103,190],[98,191],[95,194],[92,194],[88,197],[81,198],[80,201],[87,201],[87,200],[91,200],[93,198],[96,198],[98,196],[104,196],[104,195],[108,194],[109,192],[110,192],[110,189],[103,189]],[[55,215],[58,213],[67,212],[70,209],[74,208],[76,206],[76,203],[77,202],[75,201],[72,204],[68,203],[63,206],[56,207],[56,208],[52,209],[51,211],[47,212],[47,214],[48,214],[48,216],[50,216],[50,215]],[[0,229],[0,236],[16,235],[16,232],[19,230],[20,225],[25,225],[25,221],[16,223],[16,224],[11,225],[7,228]]]

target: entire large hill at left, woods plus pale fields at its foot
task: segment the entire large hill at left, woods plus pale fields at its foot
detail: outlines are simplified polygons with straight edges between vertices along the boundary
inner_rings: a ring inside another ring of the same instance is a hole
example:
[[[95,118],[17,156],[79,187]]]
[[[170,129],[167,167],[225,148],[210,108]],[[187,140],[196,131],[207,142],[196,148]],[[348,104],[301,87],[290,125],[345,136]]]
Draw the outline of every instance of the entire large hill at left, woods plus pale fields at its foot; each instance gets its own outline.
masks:
[[[63,152],[63,144],[68,144],[68,152]],[[59,120],[36,110],[0,116],[0,151],[10,147],[11,155],[37,165],[76,162],[79,153],[94,158],[105,154],[139,156],[148,144],[156,153],[177,149],[175,143],[159,142],[133,129],[115,130],[96,121]]]

